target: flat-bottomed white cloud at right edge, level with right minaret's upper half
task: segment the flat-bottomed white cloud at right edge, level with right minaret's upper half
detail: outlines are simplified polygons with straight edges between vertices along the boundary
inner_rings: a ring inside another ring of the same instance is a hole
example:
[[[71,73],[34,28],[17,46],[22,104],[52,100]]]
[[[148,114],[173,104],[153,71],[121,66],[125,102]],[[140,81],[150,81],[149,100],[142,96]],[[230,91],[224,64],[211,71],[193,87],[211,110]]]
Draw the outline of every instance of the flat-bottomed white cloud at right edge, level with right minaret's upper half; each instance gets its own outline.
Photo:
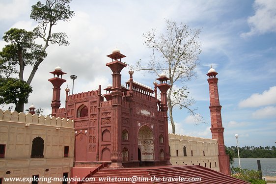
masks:
[[[252,94],[248,99],[242,100],[239,107],[258,107],[272,104],[276,104],[276,86],[270,87],[262,94]]]

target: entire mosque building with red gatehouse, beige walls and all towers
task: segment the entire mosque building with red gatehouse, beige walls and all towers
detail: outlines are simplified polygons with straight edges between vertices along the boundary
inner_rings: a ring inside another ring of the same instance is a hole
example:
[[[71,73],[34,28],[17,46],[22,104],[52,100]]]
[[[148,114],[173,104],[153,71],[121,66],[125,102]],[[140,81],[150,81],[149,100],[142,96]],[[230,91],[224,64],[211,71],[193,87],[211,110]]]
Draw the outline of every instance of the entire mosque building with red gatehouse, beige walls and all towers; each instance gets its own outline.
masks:
[[[49,79],[54,86],[52,117],[34,114],[33,105],[28,114],[0,112],[0,178],[84,177],[103,163],[114,169],[200,165],[230,174],[218,73],[213,68],[207,74],[212,132],[212,139],[207,139],[168,133],[166,92],[170,85],[165,74],[151,89],[134,81],[134,72],[129,71],[129,80],[123,86],[120,73],[127,65],[121,60],[126,56],[114,50],[108,57],[111,61],[106,66],[112,71],[112,85],[104,88],[106,94],[101,94],[101,85],[97,90],[72,95],[66,88],[65,107],[60,108],[60,86],[66,81],[62,79],[66,73],[56,67],[50,72],[54,77]],[[16,150],[24,156],[18,156]],[[15,160],[22,165],[15,166]]]

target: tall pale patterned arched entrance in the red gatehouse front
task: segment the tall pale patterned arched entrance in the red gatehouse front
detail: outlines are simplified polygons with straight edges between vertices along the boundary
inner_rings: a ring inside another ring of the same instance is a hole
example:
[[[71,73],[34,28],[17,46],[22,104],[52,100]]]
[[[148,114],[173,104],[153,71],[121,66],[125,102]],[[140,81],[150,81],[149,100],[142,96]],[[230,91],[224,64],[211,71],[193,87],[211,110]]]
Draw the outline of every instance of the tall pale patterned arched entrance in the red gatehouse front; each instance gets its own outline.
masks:
[[[138,148],[141,151],[141,160],[154,160],[153,131],[146,125],[138,131]]]

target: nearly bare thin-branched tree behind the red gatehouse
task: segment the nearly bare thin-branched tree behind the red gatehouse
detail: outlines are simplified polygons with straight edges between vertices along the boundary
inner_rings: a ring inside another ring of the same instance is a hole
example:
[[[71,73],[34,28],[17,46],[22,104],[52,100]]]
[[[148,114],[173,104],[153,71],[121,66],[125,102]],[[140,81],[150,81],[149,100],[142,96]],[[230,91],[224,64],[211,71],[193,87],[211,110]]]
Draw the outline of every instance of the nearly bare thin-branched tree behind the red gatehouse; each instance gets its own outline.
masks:
[[[177,82],[186,82],[195,77],[194,69],[199,64],[198,54],[201,53],[200,43],[197,38],[201,29],[191,29],[183,23],[166,20],[166,31],[164,34],[157,34],[155,29],[143,34],[144,44],[153,49],[148,64],[144,66],[139,60],[136,66],[131,66],[137,71],[148,71],[160,75],[165,73],[170,79],[171,88],[168,91],[169,120],[172,126],[172,133],[175,133],[172,111],[175,106],[186,108],[195,118],[196,122],[202,117],[191,108],[193,99],[188,98],[187,87],[177,88]],[[157,55],[156,55],[157,53]]]

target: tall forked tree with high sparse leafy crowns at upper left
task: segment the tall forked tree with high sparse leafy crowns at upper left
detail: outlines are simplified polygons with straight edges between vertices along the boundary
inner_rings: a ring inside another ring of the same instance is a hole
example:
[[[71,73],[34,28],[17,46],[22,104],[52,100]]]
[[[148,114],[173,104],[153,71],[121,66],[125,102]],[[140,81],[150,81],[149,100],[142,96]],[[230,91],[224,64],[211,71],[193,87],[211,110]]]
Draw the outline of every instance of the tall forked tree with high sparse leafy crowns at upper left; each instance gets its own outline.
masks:
[[[3,39],[7,45],[0,52],[0,72],[6,78],[12,74],[18,74],[19,80],[24,82],[24,70],[26,66],[32,66],[26,84],[30,85],[39,65],[47,56],[46,49],[49,44],[69,45],[66,41],[66,34],[63,32],[53,32],[53,26],[58,21],[69,21],[75,13],[68,5],[71,0],[46,0],[43,4],[38,1],[32,5],[30,18],[38,22],[38,26],[32,31],[11,28],[4,33]],[[35,43],[37,38],[42,38],[43,45]],[[19,65],[19,67],[18,67]],[[19,68],[19,69],[18,69]],[[20,88],[21,89],[21,88]],[[19,96],[23,98],[22,96]],[[17,110],[24,110],[26,99],[18,99]],[[14,103],[14,102],[13,102]]]

